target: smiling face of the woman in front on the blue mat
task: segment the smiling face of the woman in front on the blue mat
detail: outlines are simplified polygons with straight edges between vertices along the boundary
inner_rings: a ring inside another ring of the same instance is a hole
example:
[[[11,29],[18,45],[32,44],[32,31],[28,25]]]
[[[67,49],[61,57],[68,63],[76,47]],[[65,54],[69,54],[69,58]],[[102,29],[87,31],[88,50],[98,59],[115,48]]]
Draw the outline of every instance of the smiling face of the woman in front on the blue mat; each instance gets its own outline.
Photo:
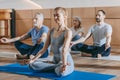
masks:
[[[62,12],[54,11],[54,20],[58,25],[62,25],[64,23],[64,15]]]

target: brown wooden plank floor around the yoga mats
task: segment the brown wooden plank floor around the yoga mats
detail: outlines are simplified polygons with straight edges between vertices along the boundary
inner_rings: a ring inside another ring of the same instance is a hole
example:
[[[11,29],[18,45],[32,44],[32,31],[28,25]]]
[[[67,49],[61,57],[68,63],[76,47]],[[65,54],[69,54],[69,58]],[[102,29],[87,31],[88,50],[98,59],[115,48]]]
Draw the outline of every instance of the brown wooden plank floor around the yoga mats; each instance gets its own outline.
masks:
[[[3,53],[7,54],[3,55]],[[119,54],[119,49],[117,53]],[[18,54],[18,51],[13,46],[0,45],[0,65],[16,62],[15,54]],[[116,75],[116,77],[113,78],[112,80],[120,80],[120,61],[81,57],[80,54],[72,56],[75,62],[76,70],[112,74]],[[49,80],[49,79],[0,72],[0,80]]]

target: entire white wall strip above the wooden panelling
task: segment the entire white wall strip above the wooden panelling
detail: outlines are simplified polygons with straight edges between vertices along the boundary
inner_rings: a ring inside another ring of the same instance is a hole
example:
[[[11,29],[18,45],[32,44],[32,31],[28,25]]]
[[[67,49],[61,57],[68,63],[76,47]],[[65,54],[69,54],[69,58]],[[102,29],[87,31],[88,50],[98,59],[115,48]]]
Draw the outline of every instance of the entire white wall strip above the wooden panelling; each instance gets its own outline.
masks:
[[[66,8],[120,6],[120,0],[0,0],[0,9],[47,9],[57,6]]]

